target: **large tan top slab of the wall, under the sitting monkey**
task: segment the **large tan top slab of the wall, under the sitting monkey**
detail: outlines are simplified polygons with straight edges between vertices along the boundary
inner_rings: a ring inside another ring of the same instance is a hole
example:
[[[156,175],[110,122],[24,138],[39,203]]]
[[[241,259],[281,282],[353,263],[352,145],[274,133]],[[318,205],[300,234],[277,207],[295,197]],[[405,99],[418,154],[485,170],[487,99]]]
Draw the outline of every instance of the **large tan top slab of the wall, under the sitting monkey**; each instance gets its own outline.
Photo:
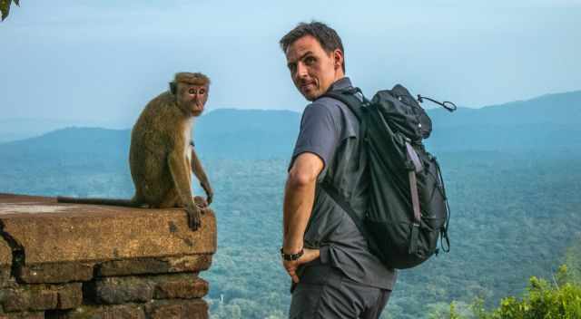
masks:
[[[213,254],[216,218],[192,231],[183,209],[59,204],[54,198],[0,194],[0,221],[25,251],[26,266]]]

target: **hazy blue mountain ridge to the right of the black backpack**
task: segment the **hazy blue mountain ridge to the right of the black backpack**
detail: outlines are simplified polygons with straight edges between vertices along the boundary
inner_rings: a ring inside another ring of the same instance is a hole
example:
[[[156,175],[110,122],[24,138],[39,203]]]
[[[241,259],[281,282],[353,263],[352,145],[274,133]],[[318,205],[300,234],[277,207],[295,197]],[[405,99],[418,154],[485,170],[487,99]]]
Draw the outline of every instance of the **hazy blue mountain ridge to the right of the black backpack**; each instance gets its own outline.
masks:
[[[428,113],[436,150],[581,150],[581,91]]]

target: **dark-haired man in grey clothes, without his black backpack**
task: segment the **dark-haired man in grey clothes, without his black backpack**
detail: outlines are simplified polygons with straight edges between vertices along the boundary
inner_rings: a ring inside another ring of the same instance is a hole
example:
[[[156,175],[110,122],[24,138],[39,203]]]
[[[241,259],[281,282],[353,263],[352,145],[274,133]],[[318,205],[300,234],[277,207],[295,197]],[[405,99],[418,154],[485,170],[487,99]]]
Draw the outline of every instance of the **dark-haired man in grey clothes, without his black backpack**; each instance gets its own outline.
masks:
[[[299,24],[281,39],[291,79],[311,103],[300,122],[284,194],[282,264],[293,281],[290,318],[378,318],[395,272],[369,252],[350,216],[321,189],[330,182],[363,216],[369,176],[359,122],[325,92],[351,87],[339,35]],[[359,160],[349,154],[358,153]]]

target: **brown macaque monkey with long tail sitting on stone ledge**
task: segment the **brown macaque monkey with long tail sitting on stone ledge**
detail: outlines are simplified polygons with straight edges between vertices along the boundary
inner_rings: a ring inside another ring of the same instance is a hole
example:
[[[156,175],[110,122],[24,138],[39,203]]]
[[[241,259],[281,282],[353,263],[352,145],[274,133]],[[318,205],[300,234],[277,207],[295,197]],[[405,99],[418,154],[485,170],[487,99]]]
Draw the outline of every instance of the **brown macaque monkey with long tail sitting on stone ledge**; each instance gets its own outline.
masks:
[[[149,102],[133,125],[129,166],[135,195],[132,199],[64,198],[61,203],[149,208],[185,208],[188,226],[201,226],[201,209],[192,196],[192,172],[206,193],[199,205],[212,203],[213,191],[202,163],[193,150],[193,118],[208,101],[210,79],[202,73],[177,73],[163,92]],[[196,198],[198,199],[198,198]]]

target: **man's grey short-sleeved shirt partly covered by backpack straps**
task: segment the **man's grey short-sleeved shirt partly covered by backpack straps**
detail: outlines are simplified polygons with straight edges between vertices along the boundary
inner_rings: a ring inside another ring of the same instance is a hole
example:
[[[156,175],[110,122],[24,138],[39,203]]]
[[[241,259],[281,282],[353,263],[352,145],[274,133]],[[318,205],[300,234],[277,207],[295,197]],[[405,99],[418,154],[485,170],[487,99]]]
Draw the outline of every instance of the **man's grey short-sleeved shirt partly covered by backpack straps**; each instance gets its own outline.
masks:
[[[350,86],[350,79],[345,77],[333,83],[330,91]],[[355,212],[363,217],[368,202],[369,175],[365,152],[360,151],[360,147],[359,121],[347,105],[335,99],[320,98],[302,113],[290,167],[301,153],[318,155],[325,164],[318,181],[332,180]],[[359,160],[347,156],[354,153],[360,154]],[[351,280],[392,289],[395,271],[370,253],[367,240],[355,223],[319,184],[304,242],[305,247],[320,248],[321,263],[339,268]]]

